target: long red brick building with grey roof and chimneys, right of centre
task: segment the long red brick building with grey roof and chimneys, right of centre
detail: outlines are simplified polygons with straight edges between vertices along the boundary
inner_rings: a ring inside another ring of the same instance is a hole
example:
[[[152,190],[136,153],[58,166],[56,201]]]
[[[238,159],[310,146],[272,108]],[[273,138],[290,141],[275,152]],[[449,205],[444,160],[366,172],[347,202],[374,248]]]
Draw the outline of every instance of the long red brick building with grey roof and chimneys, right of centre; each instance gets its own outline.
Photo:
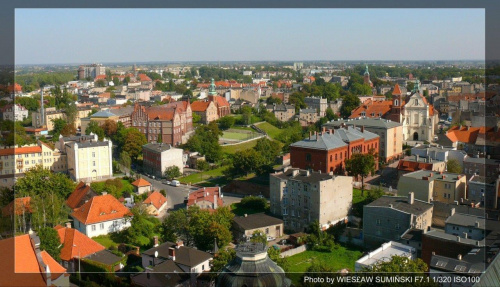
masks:
[[[340,173],[345,169],[345,160],[354,153],[366,154],[373,149],[378,154],[379,140],[378,135],[364,127],[323,128],[322,132],[290,145],[290,164],[300,169]]]

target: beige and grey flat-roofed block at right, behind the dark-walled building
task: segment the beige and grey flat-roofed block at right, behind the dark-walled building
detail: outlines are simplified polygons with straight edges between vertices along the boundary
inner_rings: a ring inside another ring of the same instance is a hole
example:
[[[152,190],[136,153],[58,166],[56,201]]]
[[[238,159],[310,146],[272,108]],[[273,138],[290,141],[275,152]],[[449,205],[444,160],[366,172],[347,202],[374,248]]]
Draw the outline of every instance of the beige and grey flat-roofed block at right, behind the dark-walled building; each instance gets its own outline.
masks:
[[[460,202],[466,198],[466,177],[462,174],[418,170],[401,176],[398,194],[415,193],[415,198],[430,202]]]

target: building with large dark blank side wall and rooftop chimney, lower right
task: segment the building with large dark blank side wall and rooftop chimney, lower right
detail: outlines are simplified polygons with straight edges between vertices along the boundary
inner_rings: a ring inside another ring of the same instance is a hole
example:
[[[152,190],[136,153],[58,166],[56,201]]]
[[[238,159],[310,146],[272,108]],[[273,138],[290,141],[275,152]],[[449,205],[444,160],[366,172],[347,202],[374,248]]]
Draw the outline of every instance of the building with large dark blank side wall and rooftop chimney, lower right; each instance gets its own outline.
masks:
[[[410,228],[426,229],[432,223],[432,204],[408,196],[382,196],[363,206],[365,246],[400,240]]]

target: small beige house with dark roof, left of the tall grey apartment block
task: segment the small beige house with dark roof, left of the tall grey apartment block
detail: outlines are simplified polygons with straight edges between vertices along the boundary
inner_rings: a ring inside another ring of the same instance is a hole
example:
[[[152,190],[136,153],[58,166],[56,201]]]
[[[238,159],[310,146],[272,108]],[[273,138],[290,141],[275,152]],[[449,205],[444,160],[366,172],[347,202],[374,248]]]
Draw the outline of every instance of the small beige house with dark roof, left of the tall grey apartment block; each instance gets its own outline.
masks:
[[[283,220],[264,213],[245,214],[233,218],[233,238],[245,241],[260,230],[266,236],[280,238],[283,235]]]

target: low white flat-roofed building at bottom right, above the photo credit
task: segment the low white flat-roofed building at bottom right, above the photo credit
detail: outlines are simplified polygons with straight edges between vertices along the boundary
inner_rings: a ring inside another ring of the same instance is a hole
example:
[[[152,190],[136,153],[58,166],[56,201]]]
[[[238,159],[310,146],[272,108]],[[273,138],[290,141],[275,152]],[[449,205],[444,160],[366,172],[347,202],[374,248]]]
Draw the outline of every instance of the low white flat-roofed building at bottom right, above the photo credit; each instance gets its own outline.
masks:
[[[369,270],[377,264],[391,261],[393,256],[401,256],[410,260],[415,260],[417,259],[416,253],[416,249],[411,246],[389,241],[358,259],[354,264],[354,268],[356,272]]]

